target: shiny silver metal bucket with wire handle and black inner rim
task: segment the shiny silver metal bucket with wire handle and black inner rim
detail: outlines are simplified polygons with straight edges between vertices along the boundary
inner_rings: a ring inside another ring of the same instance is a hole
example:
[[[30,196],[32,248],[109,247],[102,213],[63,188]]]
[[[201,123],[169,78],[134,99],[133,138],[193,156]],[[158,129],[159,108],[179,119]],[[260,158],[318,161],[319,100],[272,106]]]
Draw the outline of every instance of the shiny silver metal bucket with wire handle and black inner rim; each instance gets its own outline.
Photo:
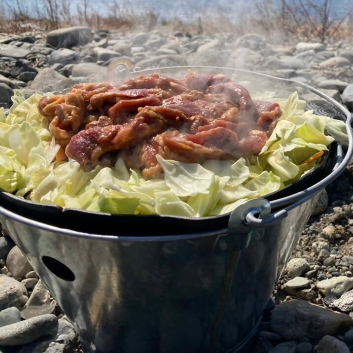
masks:
[[[80,222],[86,223],[81,223],[85,231],[79,231],[77,221],[73,226],[58,223],[51,215],[45,221],[37,210],[29,215],[29,207],[3,199],[3,227],[90,353],[243,352],[321,190],[352,157],[351,114],[314,88],[246,71],[197,69],[235,73],[258,86],[266,77],[281,90],[317,94],[326,109],[346,119],[347,150],[337,145],[320,180],[308,179],[290,195],[271,201],[250,200],[220,222],[217,217],[203,223],[158,216],[147,222],[124,216],[116,222],[106,214],[90,218],[79,212]],[[87,230],[104,229],[105,223],[107,232]]]

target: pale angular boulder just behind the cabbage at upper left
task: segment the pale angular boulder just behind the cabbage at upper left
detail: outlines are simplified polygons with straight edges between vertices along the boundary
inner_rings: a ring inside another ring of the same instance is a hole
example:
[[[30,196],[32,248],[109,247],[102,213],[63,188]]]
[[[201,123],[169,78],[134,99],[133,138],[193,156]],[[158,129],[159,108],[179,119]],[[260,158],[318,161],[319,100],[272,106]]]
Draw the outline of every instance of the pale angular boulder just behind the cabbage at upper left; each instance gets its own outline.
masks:
[[[37,92],[47,93],[63,91],[65,88],[71,86],[70,78],[65,77],[53,69],[45,68],[35,76],[35,79],[31,82],[28,88]]]

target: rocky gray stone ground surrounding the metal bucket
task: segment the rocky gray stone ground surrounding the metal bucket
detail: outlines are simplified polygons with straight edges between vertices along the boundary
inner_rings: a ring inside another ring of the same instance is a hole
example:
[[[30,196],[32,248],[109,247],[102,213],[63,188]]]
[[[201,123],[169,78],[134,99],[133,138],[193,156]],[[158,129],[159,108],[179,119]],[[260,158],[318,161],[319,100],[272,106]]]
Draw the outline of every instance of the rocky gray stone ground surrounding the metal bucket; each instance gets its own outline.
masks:
[[[353,38],[279,46],[258,35],[84,28],[0,35],[0,106],[10,106],[16,88],[30,95],[101,81],[115,58],[142,69],[209,65],[263,71],[318,87],[353,110]],[[0,271],[0,353],[81,352],[71,323],[6,234],[0,237]],[[248,352],[349,353],[352,328],[353,164],[324,190]]]

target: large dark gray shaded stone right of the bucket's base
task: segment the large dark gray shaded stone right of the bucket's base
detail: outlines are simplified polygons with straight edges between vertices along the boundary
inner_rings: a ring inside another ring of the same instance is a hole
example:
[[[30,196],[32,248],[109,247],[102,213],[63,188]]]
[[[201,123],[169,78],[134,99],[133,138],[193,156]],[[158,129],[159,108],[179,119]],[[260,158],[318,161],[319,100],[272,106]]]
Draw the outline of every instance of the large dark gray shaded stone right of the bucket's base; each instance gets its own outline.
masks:
[[[347,330],[352,324],[353,319],[346,314],[303,300],[282,302],[271,314],[271,330],[286,340],[321,339]]]

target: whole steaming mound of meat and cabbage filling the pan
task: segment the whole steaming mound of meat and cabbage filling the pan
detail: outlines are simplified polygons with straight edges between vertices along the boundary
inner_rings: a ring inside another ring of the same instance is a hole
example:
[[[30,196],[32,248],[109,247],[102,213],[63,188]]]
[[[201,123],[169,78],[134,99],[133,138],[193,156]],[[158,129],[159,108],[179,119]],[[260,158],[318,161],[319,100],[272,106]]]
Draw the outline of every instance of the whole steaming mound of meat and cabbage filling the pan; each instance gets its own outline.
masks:
[[[288,99],[251,97],[221,74],[20,91],[0,116],[0,187],[97,212],[203,217],[231,212],[316,168],[345,124]]]

